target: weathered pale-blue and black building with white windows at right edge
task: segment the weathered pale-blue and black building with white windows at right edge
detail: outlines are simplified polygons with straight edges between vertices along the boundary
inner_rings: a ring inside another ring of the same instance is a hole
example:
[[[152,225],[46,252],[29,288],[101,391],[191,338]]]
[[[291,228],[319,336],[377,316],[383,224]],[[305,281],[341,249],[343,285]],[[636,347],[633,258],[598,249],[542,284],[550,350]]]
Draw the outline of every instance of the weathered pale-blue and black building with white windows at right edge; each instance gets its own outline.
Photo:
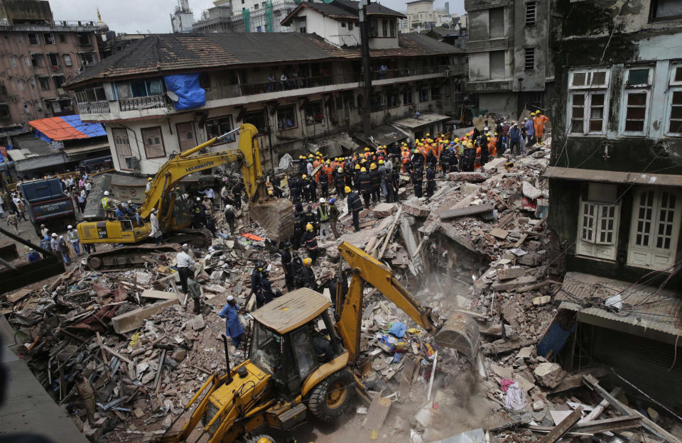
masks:
[[[548,223],[560,315],[578,322],[563,361],[598,361],[680,412],[682,7],[554,3]]]

